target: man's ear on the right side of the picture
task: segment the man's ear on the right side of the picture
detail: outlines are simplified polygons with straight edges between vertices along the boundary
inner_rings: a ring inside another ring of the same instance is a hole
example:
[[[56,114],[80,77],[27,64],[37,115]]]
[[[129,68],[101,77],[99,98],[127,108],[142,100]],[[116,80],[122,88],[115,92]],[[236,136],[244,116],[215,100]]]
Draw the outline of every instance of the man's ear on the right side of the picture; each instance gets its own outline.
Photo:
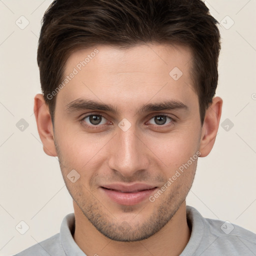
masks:
[[[214,145],[221,116],[222,102],[220,97],[214,97],[205,111],[200,138],[200,157],[207,156]]]

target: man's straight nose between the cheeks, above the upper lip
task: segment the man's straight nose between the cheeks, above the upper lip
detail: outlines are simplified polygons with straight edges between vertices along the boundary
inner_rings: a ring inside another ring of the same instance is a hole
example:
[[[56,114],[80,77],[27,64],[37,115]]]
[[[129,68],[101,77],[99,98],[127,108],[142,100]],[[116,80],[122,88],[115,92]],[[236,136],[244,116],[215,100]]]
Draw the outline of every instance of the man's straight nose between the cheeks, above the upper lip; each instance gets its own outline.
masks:
[[[136,172],[147,169],[150,150],[144,144],[141,133],[136,132],[135,125],[126,131],[117,127],[116,132],[111,140],[109,167],[125,177],[135,176]]]

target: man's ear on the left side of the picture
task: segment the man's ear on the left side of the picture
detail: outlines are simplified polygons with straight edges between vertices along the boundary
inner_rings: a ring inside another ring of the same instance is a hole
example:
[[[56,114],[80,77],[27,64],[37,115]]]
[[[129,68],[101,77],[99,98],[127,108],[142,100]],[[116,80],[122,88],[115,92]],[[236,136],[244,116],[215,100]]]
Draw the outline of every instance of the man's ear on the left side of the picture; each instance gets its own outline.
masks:
[[[42,94],[36,94],[34,97],[34,115],[37,130],[42,141],[43,151],[50,156],[57,156],[49,108]]]

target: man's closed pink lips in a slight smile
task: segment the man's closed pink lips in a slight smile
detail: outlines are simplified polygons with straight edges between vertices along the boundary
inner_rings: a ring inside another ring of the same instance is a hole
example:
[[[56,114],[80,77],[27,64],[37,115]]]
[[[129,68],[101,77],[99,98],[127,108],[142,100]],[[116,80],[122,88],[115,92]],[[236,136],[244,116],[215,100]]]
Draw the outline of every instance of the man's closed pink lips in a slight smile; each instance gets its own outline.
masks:
[[[134,205],[148,199],[157,187],[147,184],[112,184],[100,186],[102,192],[112,201],[122,205]]]

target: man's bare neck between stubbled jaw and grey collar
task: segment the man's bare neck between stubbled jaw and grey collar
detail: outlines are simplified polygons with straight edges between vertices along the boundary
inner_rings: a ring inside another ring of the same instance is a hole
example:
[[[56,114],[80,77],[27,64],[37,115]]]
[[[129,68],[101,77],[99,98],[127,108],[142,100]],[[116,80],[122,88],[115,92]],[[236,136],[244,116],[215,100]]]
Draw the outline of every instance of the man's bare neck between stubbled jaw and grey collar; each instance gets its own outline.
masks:
[[[147,239],[135,242],[120,242],[105,237],[89,222],[75,202],[73,205],[73,238],[87,256],[176,256],[182,252],[190,238],[191,230],[186,221],[185,201],[158,232]]]

